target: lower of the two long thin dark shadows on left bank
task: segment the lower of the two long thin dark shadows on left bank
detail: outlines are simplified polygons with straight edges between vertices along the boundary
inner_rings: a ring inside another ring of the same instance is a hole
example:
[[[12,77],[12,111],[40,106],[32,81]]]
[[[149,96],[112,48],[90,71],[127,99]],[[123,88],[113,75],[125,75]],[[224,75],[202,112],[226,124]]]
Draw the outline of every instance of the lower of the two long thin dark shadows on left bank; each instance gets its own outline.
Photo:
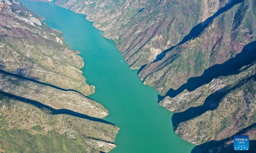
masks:
[[[16,95],[13,95],[13,94],[10,94],[10,93],[7,93],[7,92],[0,91],[0,94],[3,94],[4,96],[9,97],[9,98],[14,98],[14,99],[17,99],[19,101],[34,105],[37,108],[40,108],[41,110],[45,110],[48,113],[53,114],[53,115],[68,114],[68,115],[80,117],[80,118],[87,119],[87,120],[92,120],[92,121],[97,121],[97,122],[101,122],[101,123],[107,123],[107,124],[115,125],[115,124],[110,123],[106,120],[91,117],[91,116],[81,114],[81,113],[76,113],[76,112],[68,110],[68,109],[53,109],[52,107],[44,105],[44,104],[42,104],[38,101],[31,100],[31,99],[28,99],[28,98],[23,98],[23,97],[20,97],[20,96],[16,96]]]

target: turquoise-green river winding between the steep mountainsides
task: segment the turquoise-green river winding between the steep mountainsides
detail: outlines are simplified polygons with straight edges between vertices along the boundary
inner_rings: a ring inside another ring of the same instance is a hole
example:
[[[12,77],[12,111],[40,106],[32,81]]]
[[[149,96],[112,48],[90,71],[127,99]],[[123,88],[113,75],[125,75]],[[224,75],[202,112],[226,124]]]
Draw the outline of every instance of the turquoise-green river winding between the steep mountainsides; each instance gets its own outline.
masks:
[[[89,97],[109,110],[104,120],[120,128],[115,141],[118,146],[110,153],[190,153],[195,146],[173,132],[173,113],[157,104],[159,93],[142,84],[137,70],[129,69],[115,43],[101,37],[103,32],[85,15],[53,2],[21,2],[46,18],[48,26],[62,31],[70,47],[81,52],[83,75],[96,88]]]

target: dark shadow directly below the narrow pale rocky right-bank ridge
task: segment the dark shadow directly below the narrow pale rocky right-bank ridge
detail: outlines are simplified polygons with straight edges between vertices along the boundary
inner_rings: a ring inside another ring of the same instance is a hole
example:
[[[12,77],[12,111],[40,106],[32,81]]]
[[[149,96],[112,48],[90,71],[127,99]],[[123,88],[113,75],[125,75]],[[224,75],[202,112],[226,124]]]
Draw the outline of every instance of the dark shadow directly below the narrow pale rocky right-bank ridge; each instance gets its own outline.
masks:
[[[204,104],[202,106],[198,106],[198,107],[190,107],[189,109],[187,109],[184,112],[180,112],[180,113],[174,113],[172,115],[172,124],[174,126],[174,129],[176,128],[177,124],[186,121],[186,120],[190,120],[193,119],[197,116],[202,115],[203,113],[205,113],[208,110],[214,110],[219,106],[220,100],[227,95],[230,91],[240,87],[241,85],[243,85],[243,83],[251,80],[251,79],[256,79],[256,75],[253,75],[247,79],[244,79],[242,81],[240,81],[240,84],[236,84],[234,87],[223,91],[223,92],[214,92],[212,93],[210,96],[208,96],[205,101]]]

